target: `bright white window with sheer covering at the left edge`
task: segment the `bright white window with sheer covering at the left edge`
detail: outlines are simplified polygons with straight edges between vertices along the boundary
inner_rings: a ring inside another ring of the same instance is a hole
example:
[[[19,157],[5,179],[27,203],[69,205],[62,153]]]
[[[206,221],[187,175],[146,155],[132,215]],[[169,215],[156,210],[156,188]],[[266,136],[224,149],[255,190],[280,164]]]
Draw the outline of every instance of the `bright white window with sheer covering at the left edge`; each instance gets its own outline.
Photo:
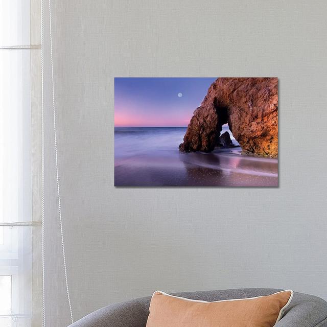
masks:
[[[36,68],[31,71],[32,52],[39,51],[31,46],[36,3],[0,3],[0,327],[32,326],[32,227],[40,225],[32,214],[33,197],[39,196],[32,187],[31,127],[39,101],[32,78]]]

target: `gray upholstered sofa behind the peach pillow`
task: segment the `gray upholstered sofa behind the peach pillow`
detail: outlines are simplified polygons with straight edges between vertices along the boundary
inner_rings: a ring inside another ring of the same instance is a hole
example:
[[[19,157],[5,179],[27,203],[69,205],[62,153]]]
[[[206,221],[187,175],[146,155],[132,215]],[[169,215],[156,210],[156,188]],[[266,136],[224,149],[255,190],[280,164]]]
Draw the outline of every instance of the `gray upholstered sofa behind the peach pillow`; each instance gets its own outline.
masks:
[[[218,301],[269,295],[276,289],[232,289],[174,293],[186,298]],[[102,308],[76,321],[71,327],[145,327],[151,297],[136,298]],[[327,327],[327,302],[323,299],[294,292],[294,297],[276,327]],[[169,326],[167,326],[169,327]]]

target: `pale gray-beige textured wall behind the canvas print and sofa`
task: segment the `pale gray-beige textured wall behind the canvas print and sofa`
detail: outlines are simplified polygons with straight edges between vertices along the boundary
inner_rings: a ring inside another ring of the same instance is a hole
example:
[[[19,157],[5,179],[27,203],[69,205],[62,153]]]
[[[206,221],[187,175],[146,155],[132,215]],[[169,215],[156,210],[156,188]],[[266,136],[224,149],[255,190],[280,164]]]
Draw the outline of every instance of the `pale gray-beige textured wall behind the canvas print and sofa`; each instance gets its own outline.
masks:
[[[156,289],[276,287],[327,298],[326,2],[52,2],[75,318]],[[45,74],[49,102],[48,64]],[[115,76],[277,76],[279,188],[115,189]],[[50,111],[46,128],[46,314],[58,327],[69,314]]]

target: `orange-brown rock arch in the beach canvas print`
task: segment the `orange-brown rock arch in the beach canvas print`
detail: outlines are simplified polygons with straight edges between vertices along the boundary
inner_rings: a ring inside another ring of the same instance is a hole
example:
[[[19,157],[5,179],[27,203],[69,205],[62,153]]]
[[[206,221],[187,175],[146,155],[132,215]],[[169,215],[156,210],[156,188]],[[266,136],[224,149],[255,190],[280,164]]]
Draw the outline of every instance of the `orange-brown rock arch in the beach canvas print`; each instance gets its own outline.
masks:
[[[226,123],[245,153],[277,157],[277,78],[218,78],[194,111],[180,151],[212,151]]]

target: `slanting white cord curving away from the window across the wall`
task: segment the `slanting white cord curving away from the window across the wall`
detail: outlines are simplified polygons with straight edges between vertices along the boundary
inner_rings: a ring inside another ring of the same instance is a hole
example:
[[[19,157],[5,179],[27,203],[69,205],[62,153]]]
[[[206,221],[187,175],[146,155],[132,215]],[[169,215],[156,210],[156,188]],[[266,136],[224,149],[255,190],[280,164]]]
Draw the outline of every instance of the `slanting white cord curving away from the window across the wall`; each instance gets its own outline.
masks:
[[[69,312],[71,314],[72,323],[74,323],[73,311],[72,311],[72,305],[71,305],[71,298],[69,297],[67,268],[66,268],[66,257],[65,257],[65,245],[64,245],[64,237],[63,237],[62,218],[61,218],[61,202],[60,202],[60,188],[59,188],[59,174],[58,174],[58,156],[57,156],[55,87],[54,87],[54,76],[53,76],[51,0],[49,0],[49,27],[50,27],[50,56],[51,56],[51,79],[52,79],[53,128],[54,128],[54,141],[55,141],[56,175],[57,175],[57,191],[58,191],[58,209],[59,209],[61,245],[62,245],[62,258],[63,258],[64,273],[65,273],[65,282],[66,282],[66,291],[67,291],[67,299],[68,299],[68,305],[69,305]]]

